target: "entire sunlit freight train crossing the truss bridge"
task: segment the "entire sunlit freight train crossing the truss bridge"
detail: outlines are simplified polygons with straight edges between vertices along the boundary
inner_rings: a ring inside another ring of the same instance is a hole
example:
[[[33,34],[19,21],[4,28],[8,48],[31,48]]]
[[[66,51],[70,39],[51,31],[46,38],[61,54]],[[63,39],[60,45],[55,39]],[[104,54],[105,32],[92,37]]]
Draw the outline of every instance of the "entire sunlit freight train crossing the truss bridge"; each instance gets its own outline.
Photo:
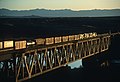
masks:
[[[57,44],[61,42],[68,42],[74,40],[82,40],[87,38],[96,37],[97,33],[83,33],[77,35],[59,36],[59,37],[49,37],[49,38],[35,38],[33,40],[3,40],[0,41],[0,52],[8,50],[21,50],[29,48],[31,46],[45,46],[51,44]]]

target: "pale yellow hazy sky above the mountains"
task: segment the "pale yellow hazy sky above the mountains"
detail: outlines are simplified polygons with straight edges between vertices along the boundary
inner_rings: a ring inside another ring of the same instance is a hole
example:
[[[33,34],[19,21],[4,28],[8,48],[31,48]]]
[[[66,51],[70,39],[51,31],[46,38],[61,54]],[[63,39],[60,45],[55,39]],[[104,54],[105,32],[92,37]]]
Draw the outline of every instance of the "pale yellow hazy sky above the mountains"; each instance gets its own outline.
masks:
[[[0,8],[8,9],[114,9],[120,8],[120,0],[0,0]]]

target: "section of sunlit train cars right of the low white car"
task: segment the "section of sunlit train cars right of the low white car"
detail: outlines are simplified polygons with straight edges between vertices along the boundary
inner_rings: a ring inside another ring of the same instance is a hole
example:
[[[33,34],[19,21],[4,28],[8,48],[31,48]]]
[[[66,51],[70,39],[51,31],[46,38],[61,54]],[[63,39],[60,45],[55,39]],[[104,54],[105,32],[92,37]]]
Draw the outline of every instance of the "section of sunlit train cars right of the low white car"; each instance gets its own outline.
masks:
[[[81,40],[96,37],[97,33],[83,33],[77,35],[68,35],[68,36],[59,36],[59,37],[49,37],[49,38],[37,38],[35,39],[34,45],[50,45],[50,44],[57,44],[61,42],[68,42],[74,40]],[[31,44],[33,45],[33,44]]]

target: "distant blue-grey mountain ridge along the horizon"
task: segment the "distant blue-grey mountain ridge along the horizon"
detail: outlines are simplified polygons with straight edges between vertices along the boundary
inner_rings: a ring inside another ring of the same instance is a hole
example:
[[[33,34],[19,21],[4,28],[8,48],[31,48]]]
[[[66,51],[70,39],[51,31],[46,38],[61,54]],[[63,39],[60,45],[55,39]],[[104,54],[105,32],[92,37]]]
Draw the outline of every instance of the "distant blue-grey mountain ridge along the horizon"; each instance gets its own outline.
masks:
[[[70,9],[48,10],[48,9],[31,9],[31,10],[9,10],[0,9],[0,17],[105,17],[120,16],[120,9],[94,9],[73,11]]]

